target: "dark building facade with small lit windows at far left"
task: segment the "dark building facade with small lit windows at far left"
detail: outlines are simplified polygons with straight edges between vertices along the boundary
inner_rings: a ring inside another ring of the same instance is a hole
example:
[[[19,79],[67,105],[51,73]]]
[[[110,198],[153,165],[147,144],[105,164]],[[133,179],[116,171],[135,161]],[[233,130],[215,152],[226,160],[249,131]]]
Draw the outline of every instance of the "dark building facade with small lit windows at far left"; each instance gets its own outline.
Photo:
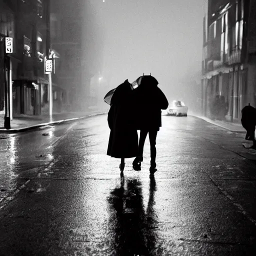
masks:
[[[0,0],[1,38],[13,38],[10,58],[10,117],[49,112],[48,76],[44,56],[48,55],[49,0]],[[0,114],[4,115],[4,44],[0,42]],[[61,93],[59,93],[61,91]],[[58,92],[58,95],[56,95]],[[60,111],[63,90],[53,85],[53,111]]]

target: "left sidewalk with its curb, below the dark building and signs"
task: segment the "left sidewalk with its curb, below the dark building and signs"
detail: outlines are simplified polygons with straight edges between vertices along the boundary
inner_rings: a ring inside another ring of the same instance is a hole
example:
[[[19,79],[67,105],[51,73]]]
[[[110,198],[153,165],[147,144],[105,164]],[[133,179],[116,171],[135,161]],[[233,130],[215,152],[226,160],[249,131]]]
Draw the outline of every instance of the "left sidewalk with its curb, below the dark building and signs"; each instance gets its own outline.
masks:
[[[3,127],[3,120],[0,124],[0,133],[14,133],[19,131],[26,131],[42,126],[58,124],[61,122],[77,120],[97,114],[103,114],[100,111],[77,111],[77,112],[61,112],[53,113],[52,118],[49,115],[25,115],[20,114],[18,117],[13,117],[10,121],[10,129],[6,130]]]

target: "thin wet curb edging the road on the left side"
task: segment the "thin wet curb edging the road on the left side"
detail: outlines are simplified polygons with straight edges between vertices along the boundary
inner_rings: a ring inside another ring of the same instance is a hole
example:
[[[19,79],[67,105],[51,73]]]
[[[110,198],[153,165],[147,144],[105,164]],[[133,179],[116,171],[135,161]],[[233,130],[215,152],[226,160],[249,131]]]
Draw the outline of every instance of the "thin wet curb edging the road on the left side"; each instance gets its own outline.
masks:
[[[47,127],[47,126],[51,126],[51,125],[61,124],[63,122],[70,122],[70,121],[75,121],[75,120],[79,120],[79,119],[84,119],[84,118],[88,118],[88,117],[95,116],[95,115],[101,115],[101,114],[105,114],[105,113],[107,113],[107,112],[93,113],[93,114],[88,114],[88,115],[81,116],[81,117],[74,117],[74,118],[68,118],[68,119],[63,119],[63,120],[58,120],[58,121],[38,123],[38,124],[31,125],[31,126],[19,128],[19,129],[9,129],[9,130],[0,129],[0,133],[22,132],[22,131],[27,131],[27,130],[31,130],[31,129],[36,129],[39,127]]]

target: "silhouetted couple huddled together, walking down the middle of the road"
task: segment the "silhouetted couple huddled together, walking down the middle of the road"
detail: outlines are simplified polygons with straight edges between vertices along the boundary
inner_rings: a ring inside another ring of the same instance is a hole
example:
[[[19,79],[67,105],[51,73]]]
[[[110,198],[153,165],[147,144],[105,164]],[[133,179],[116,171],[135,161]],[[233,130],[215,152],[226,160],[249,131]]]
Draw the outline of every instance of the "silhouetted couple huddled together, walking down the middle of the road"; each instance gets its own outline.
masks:
[[[148,133],[150,142],[150,175],[156,171],[156,136],[161,127],[161,109],[168,101],[151,75],[138,77],[132,84],[126,79],[116,87],[110,101],[107,121],[110,135],[107,155],[121,158],[121,173],[124,158],[135,157],[134,170],[141,169],[143,147]],[[140,130],[139,143],[137,130]]]

